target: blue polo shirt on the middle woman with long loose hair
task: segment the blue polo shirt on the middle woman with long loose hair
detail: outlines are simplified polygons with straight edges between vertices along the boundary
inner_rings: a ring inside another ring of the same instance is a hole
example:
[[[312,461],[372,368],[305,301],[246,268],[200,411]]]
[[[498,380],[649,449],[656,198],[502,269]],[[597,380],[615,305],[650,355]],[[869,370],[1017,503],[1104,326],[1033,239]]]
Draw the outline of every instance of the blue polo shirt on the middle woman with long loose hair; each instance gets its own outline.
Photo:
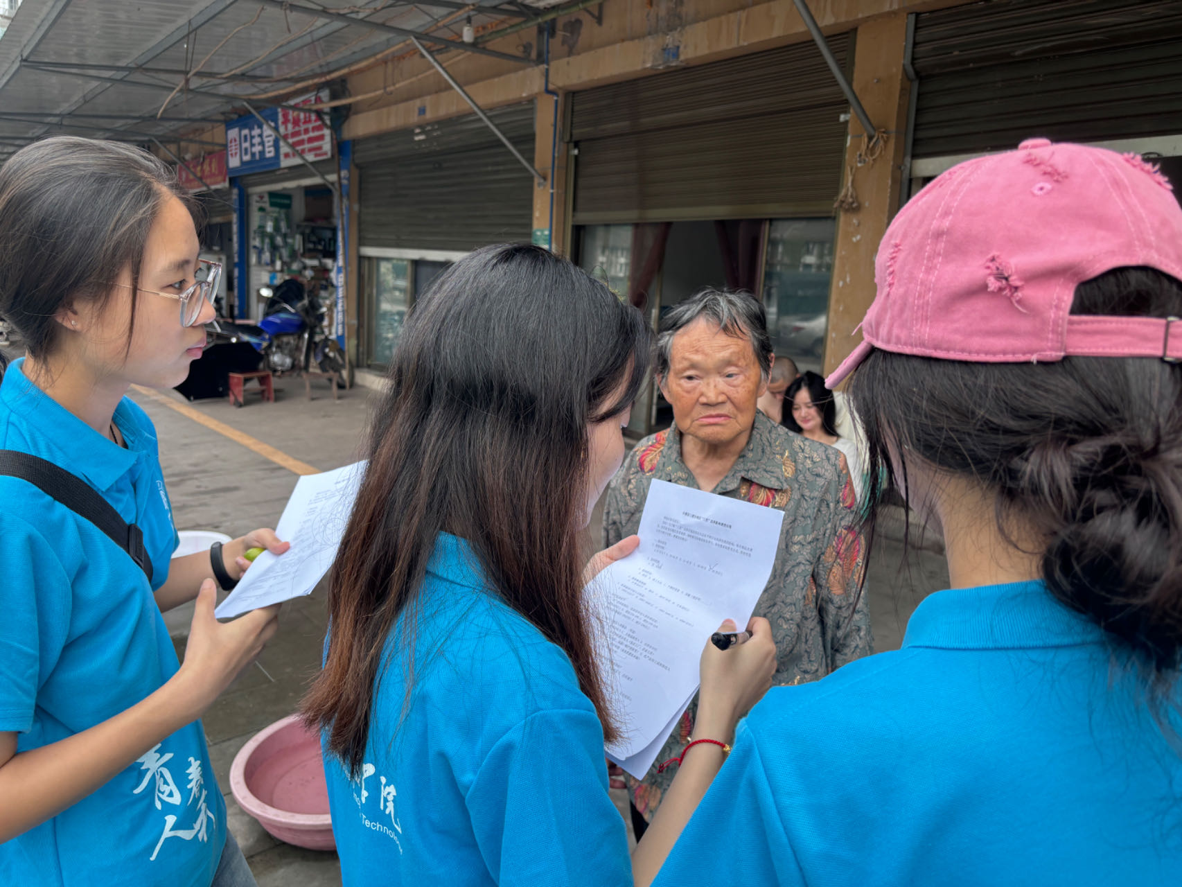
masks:
[[[345,885],[631,887],[603,727],[566,654],[440,535],[407,698],[400,619],[356,779],[325,753]]]

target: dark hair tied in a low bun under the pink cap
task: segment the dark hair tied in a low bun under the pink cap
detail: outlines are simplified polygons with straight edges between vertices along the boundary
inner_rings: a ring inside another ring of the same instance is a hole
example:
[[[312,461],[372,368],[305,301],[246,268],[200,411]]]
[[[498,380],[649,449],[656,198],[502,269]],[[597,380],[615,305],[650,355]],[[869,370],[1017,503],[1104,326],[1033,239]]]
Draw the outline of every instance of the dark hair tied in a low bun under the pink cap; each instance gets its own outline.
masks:
[[[1182,283],[1116,268],[1079,284],[1072,313],[1182,315]],[[849,390],[869,444],[871,503],[891,483],[879,470],[889,447],[904,487],[913,454],[980,481],[996,493],[1004,531],[1017,519],[1045,539],[1051,594],[1148,666],[1158,700],[1169,693],[1182,665],[1182,367],[1152,357],[962,363],[875,350]]]

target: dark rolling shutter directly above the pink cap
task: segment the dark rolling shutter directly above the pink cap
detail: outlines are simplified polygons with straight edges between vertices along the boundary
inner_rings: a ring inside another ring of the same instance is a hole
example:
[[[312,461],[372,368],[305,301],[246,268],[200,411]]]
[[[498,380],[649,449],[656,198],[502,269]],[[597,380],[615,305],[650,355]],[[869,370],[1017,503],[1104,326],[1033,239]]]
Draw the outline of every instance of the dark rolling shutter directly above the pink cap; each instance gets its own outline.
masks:
[[[989,0],[915,19],[913,155],[1182,132],[1177,0]]]

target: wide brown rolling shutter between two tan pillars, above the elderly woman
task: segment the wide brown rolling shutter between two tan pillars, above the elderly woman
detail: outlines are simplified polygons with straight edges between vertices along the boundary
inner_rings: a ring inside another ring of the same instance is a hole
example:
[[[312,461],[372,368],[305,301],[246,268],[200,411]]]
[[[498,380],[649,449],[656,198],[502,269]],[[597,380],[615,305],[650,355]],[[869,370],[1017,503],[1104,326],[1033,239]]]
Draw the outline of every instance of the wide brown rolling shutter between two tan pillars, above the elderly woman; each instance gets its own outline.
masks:
[[[846,110],[812,43],[576,92],[574,221],[830,215]]]

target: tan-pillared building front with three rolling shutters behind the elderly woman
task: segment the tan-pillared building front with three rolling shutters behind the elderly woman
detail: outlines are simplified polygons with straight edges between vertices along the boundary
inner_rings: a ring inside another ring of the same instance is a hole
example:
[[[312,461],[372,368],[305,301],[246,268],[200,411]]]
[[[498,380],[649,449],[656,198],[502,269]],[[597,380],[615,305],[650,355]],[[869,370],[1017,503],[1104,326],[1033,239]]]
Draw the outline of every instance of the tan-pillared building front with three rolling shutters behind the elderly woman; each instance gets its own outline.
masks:
[[[476,45],[521,61],[444,56],[463,93],[413,48],[355,66],[338,221],[361,381],[430,279],[489,242],[570,255],[654,324],[702,286],[749,290],[777,351],[827,371],[891,216],[953,163],[1047,136],[1182,179],[1176,2],[808,7],[832,64],[791,0],[604,0],[483,26]],[[638,407],[634,430],[668,422],[658,393]]]

